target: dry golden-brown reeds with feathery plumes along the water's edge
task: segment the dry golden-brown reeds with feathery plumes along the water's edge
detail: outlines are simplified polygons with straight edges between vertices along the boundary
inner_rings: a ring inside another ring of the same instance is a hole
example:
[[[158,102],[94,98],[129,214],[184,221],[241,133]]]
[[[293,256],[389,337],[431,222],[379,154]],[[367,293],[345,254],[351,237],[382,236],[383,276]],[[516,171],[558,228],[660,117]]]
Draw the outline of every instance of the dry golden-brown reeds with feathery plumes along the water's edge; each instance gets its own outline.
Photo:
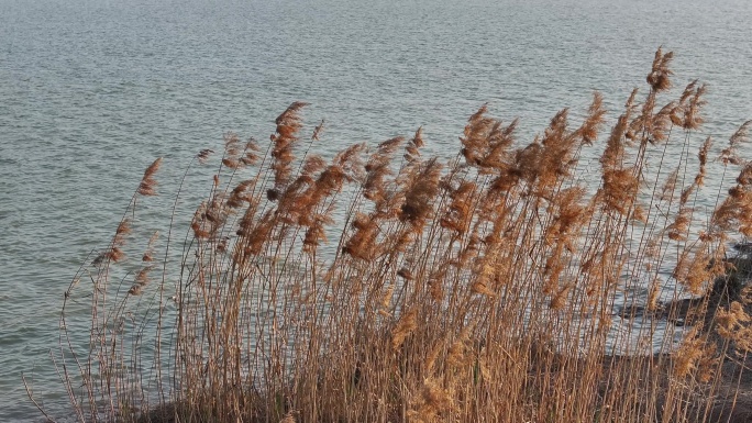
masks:
[[[671,59],[656,52],[609,132],[598,93],[527,145],[483,107],[450,159],[423,157],[420,129],[324,159],[323,123],[294,103],[267,145],[200,152],[213,181],[185,238],[170,222],[139,253],[156,160],[65,296],[54,359],[78,419],[741,419],[752,319],[727,248],[752,235],[751,123],[711,157],[706,88],[674,98]]]

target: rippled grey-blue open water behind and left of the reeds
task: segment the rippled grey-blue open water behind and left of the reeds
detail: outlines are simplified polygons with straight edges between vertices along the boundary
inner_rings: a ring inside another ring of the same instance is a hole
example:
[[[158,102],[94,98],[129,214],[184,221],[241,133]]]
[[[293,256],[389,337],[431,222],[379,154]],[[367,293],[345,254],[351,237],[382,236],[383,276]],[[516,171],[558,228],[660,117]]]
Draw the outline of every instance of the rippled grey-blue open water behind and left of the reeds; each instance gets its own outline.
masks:
[[[453,156],[486,102],[529,142],[594,90],[613,118],[659,45],[676,86],[708,84],[701,135],[725,141],[752,118],[751,15],[747,0],[0,0],[0,421],[41,416],[22,374],[66,415],[47,354],[63,292],[155,157],[168,203],[199,149],[266,140],[296,100],[327,120],[323,153],[422,125]]]

